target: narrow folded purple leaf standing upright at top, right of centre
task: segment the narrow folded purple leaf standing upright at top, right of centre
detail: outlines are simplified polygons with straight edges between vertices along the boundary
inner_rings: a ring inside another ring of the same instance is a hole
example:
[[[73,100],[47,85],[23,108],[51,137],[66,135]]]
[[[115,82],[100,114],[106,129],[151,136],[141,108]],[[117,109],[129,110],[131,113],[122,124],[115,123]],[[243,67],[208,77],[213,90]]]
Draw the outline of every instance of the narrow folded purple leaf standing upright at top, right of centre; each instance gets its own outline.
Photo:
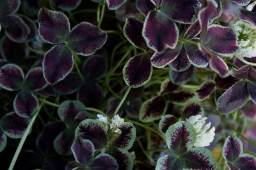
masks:
[[[211,17],[218,8],[216,1],[207,1],[208,5],[198,12],[198,21],[201,27],[200,38],[204,37],[208,31],[208,25],[211,22]]]

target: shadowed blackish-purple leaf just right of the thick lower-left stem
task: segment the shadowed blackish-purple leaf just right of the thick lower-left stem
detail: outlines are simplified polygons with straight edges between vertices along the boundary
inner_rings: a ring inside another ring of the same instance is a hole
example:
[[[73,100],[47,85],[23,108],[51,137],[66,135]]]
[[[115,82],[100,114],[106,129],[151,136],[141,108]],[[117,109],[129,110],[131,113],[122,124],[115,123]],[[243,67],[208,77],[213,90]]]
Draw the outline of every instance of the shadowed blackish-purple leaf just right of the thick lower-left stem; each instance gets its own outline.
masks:
[[[45,125],[43,131],[36,138],[36,146],[43,155],[47,156],[55,153],[53,141],[64,129],[66,129],[66,126],[60,121],[49,122]]]

